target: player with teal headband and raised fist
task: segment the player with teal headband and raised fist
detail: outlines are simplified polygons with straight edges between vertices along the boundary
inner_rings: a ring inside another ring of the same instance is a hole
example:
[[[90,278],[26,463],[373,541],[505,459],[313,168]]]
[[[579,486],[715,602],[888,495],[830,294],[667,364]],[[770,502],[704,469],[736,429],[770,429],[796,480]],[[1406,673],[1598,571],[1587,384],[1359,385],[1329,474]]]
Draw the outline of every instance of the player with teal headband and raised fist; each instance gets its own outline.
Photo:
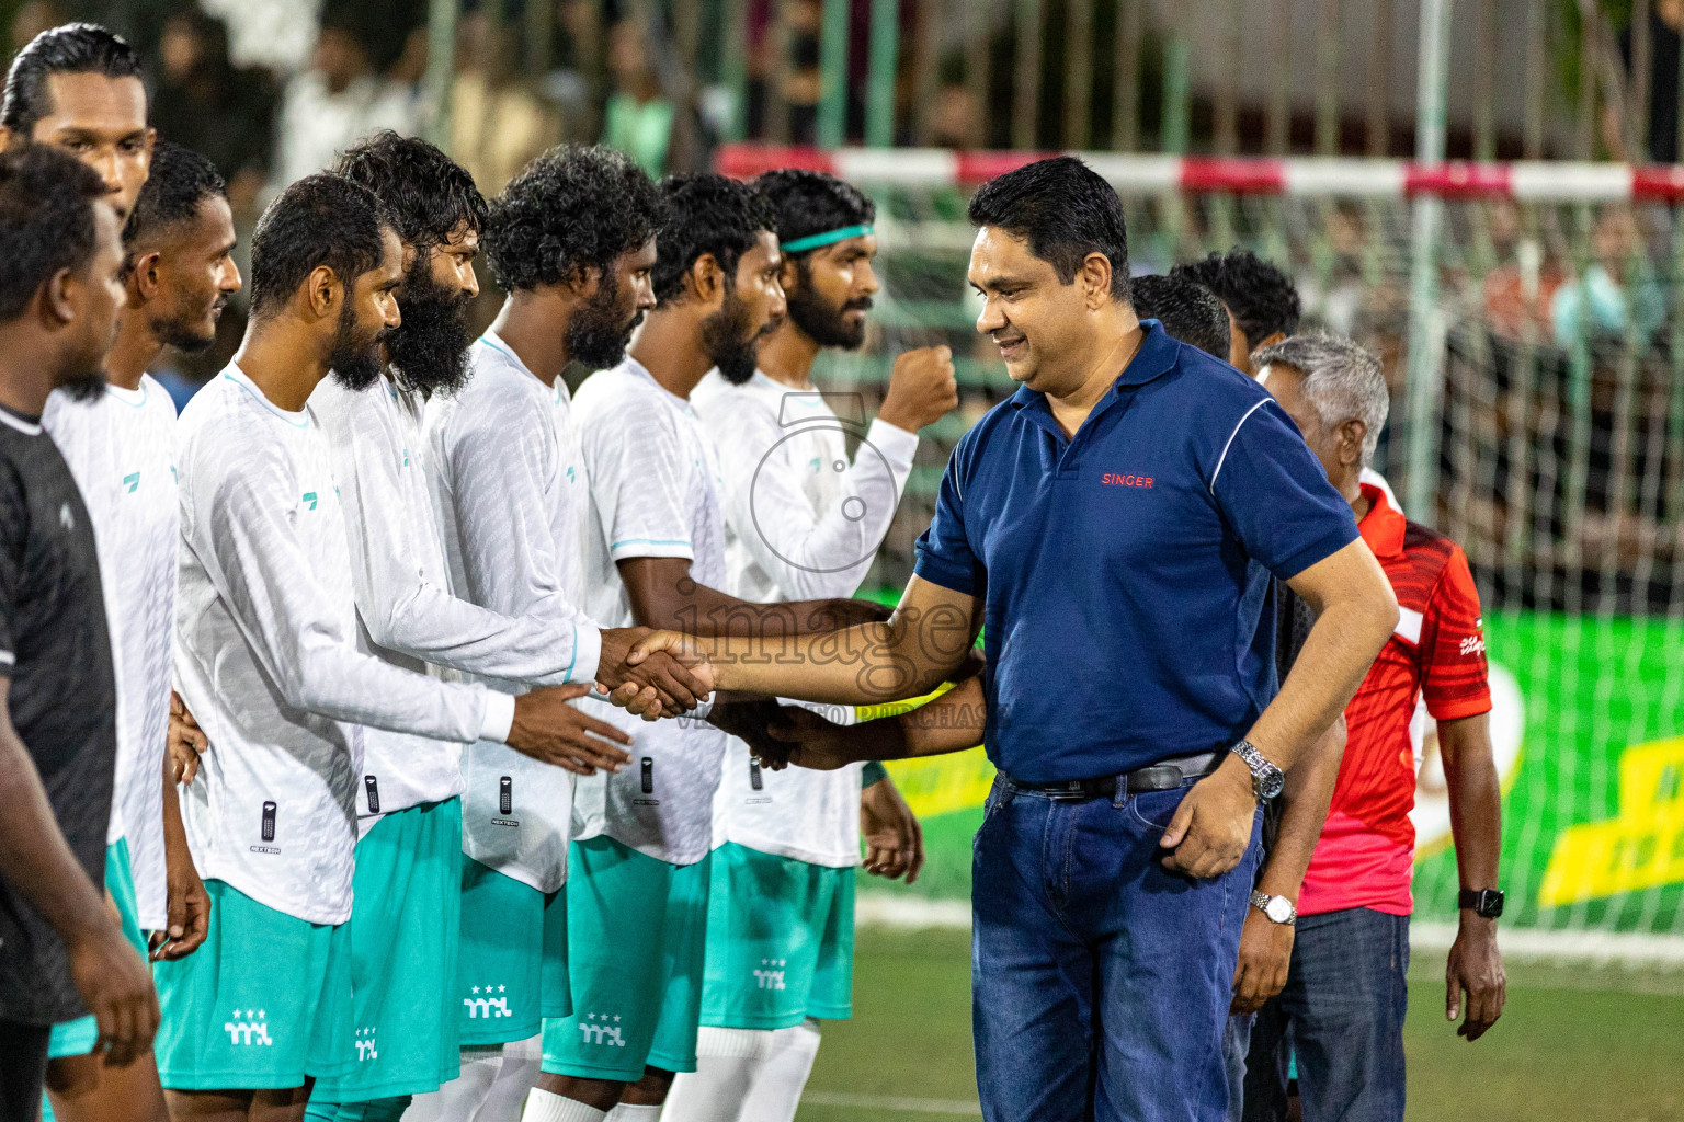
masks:
[[[857,394],[815,390],[820,350],[866,340],[876,209],[820,172],[770,172],[756,188],[778,224],[788,318],[758,370],[714,370],[690,395],[719,449],[727,589],[746,601],[852,595],[889,532],[918,431],[958,404],[953,362],[945,347],[901,355],[869,429]],[[862,437],[852,463],[850,434]],[[669,1122],[790,1122],[818,1023],[850,1016],[862,769],[763,770],[729,740],[697,1070],[674,1082]],[[869,868],[916,876],[918,826],[881,765],[864,794],[874,839],[894,839]]]

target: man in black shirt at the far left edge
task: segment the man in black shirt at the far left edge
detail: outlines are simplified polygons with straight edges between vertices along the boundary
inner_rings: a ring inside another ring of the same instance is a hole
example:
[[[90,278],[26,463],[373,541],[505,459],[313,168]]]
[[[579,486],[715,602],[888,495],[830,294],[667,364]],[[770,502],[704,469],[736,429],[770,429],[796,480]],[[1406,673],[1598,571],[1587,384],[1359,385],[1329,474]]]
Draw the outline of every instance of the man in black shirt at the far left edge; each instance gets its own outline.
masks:
[[[104,377],[123,304],[104,195],[59,151],[0,155],[0,1122],[35,1119],[52,1023],[93,1013],[118,1066],[158,1026],[101,893],[116,691],[93,528],[40,429],[47,394]]]

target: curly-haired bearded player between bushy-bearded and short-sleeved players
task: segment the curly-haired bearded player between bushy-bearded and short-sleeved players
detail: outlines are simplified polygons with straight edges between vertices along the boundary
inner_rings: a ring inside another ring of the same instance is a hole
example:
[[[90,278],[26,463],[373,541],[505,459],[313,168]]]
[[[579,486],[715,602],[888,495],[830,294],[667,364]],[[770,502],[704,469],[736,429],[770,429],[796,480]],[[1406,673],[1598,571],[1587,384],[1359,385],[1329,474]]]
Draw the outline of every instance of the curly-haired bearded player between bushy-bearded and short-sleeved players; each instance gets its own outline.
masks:
[[[578,629],[573,673],[605,681],[620,680],[638,632],[610,627],[598,641],[584,614],[589,483],[561,372],[625,355],[653,303],[658,224],[653,183],[620,153],[569,146],[536,160],[487,220],[492,276],[509,299],[468,350],[466,385],[436,395],[424,417],[455,592]],[[466,752],[463,770],[461,1078],[418,1098],[408,1117],[512,1122],[537,1078],[539,1014],[573,1008],[561,893],[573,775],[487,744]]]

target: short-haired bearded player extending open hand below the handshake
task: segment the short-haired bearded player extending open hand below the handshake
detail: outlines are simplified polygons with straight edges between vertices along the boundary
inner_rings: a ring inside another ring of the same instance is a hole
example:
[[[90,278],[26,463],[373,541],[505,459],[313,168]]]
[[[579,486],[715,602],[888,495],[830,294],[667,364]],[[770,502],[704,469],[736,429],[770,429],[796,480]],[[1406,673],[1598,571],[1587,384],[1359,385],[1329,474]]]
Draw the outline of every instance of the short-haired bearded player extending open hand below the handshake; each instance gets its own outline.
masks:
[[[365,188],[288,187],[253,236],[246,340],[177,426],[177,678],[212,745],[182,818],[212,913],[204,947],[155,971],[175,1119],[301,1119],[308,1080],[347,1066],[364,725],[576,752],[561,713],[583,686],[509,698],[355,648],[338,483],[308,397],[330,373],[379,378],[401,261]]]

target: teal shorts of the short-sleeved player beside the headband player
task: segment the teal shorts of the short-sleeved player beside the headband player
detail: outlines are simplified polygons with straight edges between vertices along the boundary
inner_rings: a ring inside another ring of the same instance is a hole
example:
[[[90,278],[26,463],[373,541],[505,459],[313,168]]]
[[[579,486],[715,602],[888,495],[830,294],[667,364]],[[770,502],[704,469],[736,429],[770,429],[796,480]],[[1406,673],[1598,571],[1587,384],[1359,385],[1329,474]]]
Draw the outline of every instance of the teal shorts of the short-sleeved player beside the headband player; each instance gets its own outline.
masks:
[[[669,865],[613,838],[569,849],[573,1016],[544,1019],[544,1070],[643,1078],[695,1070],[707,939],[707,866]]]

